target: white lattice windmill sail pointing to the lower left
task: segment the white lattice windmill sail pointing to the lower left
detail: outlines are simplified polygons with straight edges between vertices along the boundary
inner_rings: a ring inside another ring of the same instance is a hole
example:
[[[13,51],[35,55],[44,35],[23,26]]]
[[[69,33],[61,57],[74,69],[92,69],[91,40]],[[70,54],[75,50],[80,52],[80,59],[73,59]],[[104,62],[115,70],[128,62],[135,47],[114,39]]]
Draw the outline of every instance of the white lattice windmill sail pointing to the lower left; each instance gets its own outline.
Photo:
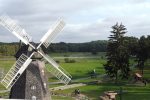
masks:
[[[1,83],[7,89],[10,89],[15,84],[15,82],[18,80],[18,78],[21,76],[21,74],[24,72],[27,66],[31,63],[31,56],[27,57],[26,55],[22,54],[19,57],[19,59],[15,62],[15,64],[11,67],[11,69],[8,71],[6,76],[1,81]]]

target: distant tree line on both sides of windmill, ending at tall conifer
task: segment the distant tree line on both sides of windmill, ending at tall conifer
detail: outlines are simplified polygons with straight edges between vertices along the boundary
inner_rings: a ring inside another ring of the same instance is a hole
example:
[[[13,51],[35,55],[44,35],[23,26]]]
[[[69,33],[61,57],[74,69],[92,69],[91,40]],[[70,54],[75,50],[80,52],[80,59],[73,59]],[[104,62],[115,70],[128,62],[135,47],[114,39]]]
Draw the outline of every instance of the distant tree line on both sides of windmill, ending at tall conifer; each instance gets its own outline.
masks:
[[[108,41],[98,40],[85,43],[52,43],[48,48],[43,48],[46,53],[53,52],[106,52]],[[19,49],[19,43],[0,43],[0,54],[5,56],[13,56]]]

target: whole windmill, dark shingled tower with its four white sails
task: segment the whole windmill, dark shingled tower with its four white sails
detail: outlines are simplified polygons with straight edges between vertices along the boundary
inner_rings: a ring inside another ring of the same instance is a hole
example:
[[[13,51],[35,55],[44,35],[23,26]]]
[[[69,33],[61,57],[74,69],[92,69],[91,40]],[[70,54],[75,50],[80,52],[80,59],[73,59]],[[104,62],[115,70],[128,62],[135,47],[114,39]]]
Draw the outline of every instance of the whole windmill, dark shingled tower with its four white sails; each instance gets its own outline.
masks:
[[[25,44],[16,53],[17,61],[1,81],[7,89],[11,90],[10,98],[50,100],[44,67],[64,84],[68,84],[71,81],[71,75],[61,68],[51,57],[45,55],[41,49],[41,45],[47,48],[56,35],[63,29],[65,23],[62,19],[59,19],[48,30],[38,45],[30,42],[31,37],[9,16],[0,16],[0,24]],[[42,58],[49,64],[45,66],[41,60]]]

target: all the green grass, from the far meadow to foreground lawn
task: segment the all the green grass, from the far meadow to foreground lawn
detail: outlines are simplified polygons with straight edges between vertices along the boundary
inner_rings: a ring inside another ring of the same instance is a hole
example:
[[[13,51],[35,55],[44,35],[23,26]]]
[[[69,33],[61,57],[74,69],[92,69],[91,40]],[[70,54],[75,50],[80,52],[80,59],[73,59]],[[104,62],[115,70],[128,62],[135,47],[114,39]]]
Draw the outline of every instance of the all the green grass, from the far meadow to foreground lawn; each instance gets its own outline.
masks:
[[[87,56],[90,53],[67,53],[68,56],[71,55],[78,55],[79,57],[89,57]],[[99,53],[104,56],[104,53]],[[59,54],[51,54],[53,57],[61,57]],[[62,54],[64,55],[64,54]],[[78,78],[84,78],[84,77],[89,77],[89,72],[93,71],[94,69],[96,70],[96,73],[99,75],[105,74],[105,71],[103,69],[103,64],[106,62],[105,59],[97,58],[75,58],[74,60],[76,61],[75,63],[65,63],[64,59],[60,58],[55,58],[56,60],[60,61],[60,65],[67,70],[71,75],[72,79],[78,79]],[[73,59],[73,58],[71,58]],[[5,72],[8,71],[8,69],[12,66],[12,64],[15,62],[15,60],[0,60],[0,68],[4,68]],[[134,62],[133,62],[134,63]],[[146,63],[146,68],[144,70],[144,77],[150,78],[150,63],[149,61]],[[50,79],[49,81],[53,81],[56,79]],[[96,78],[96,79],[86,79],[86,80],[81,80],[80,82],[91,82],[95,80],[101,80],[101,78]],[[149,95],[150,95],[150,84],[148,83],[146,86],[136,86],[136,85],[127,85],[128,81],[124,80],[120,82],[120,84],[114,84],[112,81],[110,82],[105,82],[105,83],[100,83],[100,84],[92,84],[92,85],[87,85],[87,86],[82,86],[79,87],[80,91],[82,94],[88,96],[92,100],[98,100],[99,96],[104,93],[104,91],[119,91],[120,87],[122,87],[123,91],[125,93],[122,94],[122,100],[149,100]],[[53,85],[50,87],[54,87],[58,85]],[[3,90],[4,87],[0,85],[0,90]],[[67,93],[72,93],[76,88],[73,89],[67,89],[67,90],[59,90],[56,91],[57,93],[62,93],[62,94],[67,94]],[[0,96],[3,96],[5,94],[0,94]],[[52,96],[53,100],[72,100],[71,97],[59,97],[59,96]],[[117,100],[119,100],[119,96],[117,96]]]

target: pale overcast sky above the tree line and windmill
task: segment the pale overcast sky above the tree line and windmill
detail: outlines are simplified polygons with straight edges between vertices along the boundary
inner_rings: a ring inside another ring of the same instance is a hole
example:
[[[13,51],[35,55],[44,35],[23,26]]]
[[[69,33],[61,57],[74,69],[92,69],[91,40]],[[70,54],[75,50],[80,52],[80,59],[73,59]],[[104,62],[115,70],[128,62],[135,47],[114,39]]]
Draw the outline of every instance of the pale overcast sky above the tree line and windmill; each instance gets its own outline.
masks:
[[[39,42],[54,22],[66,23],[53,42],[81,43],[108,40],[117,22],[128,36],[150,35],[150,0],[0,0],[0,15],[7,14]],[[0,27],[0,42],[19,41]]]

